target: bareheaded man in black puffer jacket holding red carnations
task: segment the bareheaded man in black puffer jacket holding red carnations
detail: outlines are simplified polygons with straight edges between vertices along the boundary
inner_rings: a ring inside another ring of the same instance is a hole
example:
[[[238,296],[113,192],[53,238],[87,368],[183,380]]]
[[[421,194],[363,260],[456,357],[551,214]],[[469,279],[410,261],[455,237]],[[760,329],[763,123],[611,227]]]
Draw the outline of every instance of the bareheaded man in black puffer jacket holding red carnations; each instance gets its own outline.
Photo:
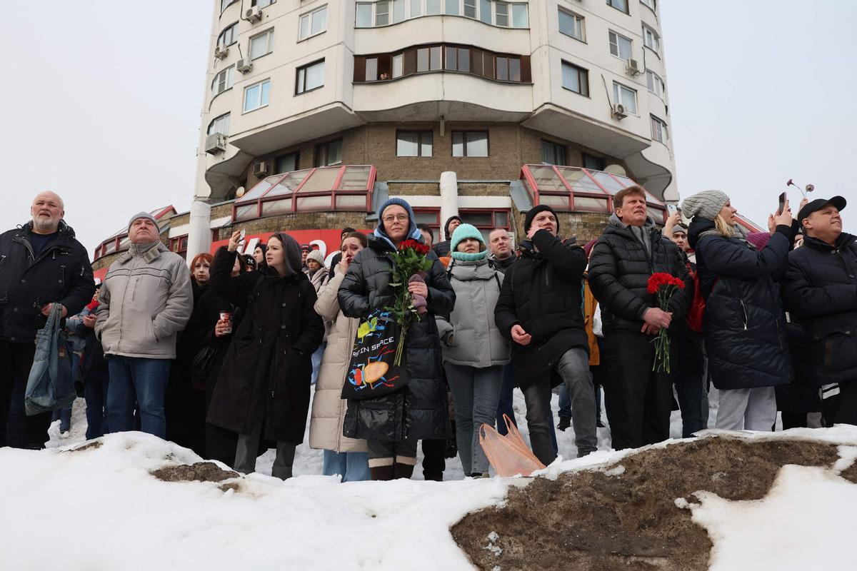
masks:
[[[645,191],[636,186],[614,195],[615,213],[590,258],[590,288],[601,304],[607,344],[605,407],[617,450],[669,437],[673,375],[652,371],[652,339],[674,320],[684,319],[693,295],[679,248],[656,229],[645,200]],[[656,272],[685,283],[673,294],[668,312],[657,307],[656,297],[647,291],[649,277]]]

